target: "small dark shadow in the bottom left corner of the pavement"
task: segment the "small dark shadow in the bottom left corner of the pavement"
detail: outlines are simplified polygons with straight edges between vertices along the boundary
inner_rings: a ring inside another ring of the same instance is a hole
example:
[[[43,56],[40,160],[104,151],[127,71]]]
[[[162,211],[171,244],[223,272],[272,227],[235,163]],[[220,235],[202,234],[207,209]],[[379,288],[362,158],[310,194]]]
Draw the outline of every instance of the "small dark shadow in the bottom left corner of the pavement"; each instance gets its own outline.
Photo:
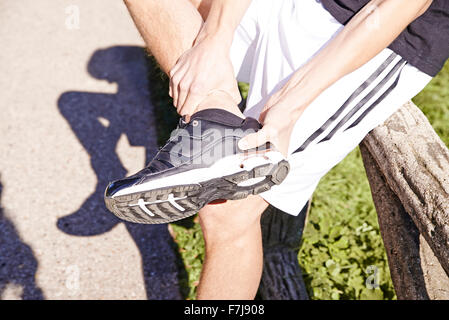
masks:
[[[4,214],[2,189],[0,182],[0,297],[8,285],[13,285],[21,290],[22,299],[41,300],[44,296],[35,282],[37,260]]]

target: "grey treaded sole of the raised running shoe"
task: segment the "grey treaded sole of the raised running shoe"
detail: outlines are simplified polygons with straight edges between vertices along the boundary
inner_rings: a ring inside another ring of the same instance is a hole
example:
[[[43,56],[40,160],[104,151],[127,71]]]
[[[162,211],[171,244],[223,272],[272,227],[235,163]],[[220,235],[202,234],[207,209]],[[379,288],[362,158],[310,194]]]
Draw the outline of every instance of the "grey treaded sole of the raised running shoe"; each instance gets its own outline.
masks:
[[[284,181],[289,170],[288,162],[281,160],[195,184],[105,197],[105,204],[122,220],[141,224],[169,223],[193,216],[214,200],[239,200],[268,191]],[[261,181],[245,185],[257,178]]]

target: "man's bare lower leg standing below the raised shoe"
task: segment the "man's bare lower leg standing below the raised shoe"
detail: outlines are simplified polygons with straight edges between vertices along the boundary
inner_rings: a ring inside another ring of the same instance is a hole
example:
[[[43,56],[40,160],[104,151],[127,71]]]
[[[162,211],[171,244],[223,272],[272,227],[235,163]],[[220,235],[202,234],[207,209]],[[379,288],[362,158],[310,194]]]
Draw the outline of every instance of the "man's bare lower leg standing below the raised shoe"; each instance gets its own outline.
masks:
[[[206,255],[197,299],[254,299],[262,276],[260,196],[210,204],[199,212]]]

